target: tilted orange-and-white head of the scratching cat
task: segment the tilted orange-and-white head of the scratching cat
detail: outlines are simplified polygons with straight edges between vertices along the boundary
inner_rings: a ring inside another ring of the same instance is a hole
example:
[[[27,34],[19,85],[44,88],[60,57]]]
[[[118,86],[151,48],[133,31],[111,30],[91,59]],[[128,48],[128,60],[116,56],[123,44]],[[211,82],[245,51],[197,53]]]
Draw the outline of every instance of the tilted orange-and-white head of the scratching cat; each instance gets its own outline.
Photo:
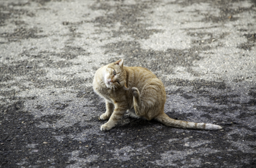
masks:
[[[105,71],[104,82],[107,87],[116,89],[126,87],[126,71],[124,70],[124,59],[120,59],[114,63],[110,63]]]

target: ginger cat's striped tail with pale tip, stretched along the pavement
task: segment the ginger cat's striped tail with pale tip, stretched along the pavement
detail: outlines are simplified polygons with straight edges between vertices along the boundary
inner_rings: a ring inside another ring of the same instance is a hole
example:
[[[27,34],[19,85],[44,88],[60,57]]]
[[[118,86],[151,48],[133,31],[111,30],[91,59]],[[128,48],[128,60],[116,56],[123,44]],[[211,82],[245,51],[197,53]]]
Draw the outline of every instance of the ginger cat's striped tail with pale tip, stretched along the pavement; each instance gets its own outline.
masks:
[[[166,126],[177,127],[182,129],[195,129],[195,130],[221,130],[222,127],[211,123],[195,123],[181,120],[174,120],[165,113],[155,118],[157,121],[163,123]]]

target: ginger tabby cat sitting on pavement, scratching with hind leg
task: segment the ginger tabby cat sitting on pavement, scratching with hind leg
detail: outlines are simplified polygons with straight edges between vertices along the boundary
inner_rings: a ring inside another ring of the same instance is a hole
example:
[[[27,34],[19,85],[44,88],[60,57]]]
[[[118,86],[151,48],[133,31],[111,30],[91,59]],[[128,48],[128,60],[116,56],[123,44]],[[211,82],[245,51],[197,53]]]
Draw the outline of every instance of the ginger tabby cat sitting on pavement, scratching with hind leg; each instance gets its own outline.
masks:
[[[174,120],[164,113],[166,93],[163,82],[143,67],[126,67],[124,59],[102,66],[93,78],[93,90],[106,101],[101,131],[112,129],[126,111],[130,117],[155,119],[166,126],[183,129],[220,130],[219,125]]]

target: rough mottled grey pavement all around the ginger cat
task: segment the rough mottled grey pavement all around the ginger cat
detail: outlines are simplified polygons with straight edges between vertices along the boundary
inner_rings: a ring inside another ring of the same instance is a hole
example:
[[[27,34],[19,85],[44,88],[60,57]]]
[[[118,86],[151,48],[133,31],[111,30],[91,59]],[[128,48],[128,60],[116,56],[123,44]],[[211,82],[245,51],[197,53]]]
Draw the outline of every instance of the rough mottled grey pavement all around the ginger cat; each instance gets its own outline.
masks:
[[[1,0],[0,167],[256,167],[256,2]],[[165,85],[165,112],[100,131],[97,68]]]

